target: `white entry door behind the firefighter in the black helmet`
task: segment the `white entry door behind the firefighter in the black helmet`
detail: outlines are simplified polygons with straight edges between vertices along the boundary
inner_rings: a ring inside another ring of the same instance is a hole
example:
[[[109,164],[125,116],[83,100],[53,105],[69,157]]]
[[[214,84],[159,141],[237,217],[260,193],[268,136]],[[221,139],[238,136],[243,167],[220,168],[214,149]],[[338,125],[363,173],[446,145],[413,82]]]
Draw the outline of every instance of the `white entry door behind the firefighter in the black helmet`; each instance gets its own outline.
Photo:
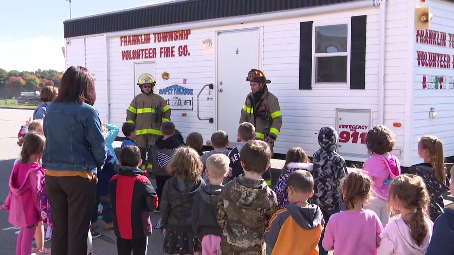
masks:
[[[259,30],[218,32],[217,129],[236,143],[241,109],[251,92],[247,73],[259,68]]]

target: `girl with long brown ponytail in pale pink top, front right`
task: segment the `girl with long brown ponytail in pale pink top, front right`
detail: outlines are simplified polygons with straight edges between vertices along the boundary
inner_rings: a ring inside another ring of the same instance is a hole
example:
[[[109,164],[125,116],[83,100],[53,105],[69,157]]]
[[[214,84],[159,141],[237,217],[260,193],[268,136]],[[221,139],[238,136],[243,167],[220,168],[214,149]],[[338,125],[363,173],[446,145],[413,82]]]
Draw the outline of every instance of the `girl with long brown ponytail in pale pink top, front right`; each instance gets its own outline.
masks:
[[[381,233],[377,255],[423,255],[429,246],[434,223],[428,218],[429,195],[421,177],[403,174],[391,182],[390,209],[400,217]]]

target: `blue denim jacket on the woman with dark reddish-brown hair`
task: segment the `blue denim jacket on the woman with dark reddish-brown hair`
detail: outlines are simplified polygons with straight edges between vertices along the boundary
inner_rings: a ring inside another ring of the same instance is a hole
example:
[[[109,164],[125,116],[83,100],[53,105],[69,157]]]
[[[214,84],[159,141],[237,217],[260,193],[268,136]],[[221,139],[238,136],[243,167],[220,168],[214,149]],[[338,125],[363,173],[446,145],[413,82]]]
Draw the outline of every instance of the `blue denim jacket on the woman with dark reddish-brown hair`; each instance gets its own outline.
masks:
[[[43,167],[97,173],[107,155],[98,111],[87,103],[51,103],[44,119]]]

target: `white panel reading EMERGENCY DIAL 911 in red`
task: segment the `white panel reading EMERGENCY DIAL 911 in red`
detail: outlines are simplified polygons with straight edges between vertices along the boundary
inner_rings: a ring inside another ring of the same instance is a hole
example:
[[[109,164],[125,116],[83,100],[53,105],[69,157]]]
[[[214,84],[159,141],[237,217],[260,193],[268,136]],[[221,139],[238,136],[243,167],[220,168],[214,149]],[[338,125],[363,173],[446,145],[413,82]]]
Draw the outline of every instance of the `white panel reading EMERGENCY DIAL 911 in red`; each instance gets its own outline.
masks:
[[[368,157],[365,137],[372,122],[372,110],[336,109],[337,152],[342,155]]]

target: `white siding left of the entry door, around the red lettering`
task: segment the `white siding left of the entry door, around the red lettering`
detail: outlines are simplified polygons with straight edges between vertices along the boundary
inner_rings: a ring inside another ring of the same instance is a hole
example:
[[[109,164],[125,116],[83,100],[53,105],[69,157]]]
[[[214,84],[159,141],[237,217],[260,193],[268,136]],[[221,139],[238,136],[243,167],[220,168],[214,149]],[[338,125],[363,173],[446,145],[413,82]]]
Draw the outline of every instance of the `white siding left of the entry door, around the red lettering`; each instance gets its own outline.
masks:
[[[212,29],[192,30],[188,40],[176,41],[173,45],[188,45],[190,53],[187,57],[169,57],[156,59],[138,59],[122,60],[122,50],[142,49],[148,46],[133,45],[120,46],[120,37],[109,38],[109,87],[110,87],[110,122],[118,127],[122,126],[126,118],[126,109],[134,98],[134,87],[137,86],[137,80],[134,80],[134,62],[154,61],[156,63],[156,87],[155,93],[159,89],[166,88],[173,84],[182,85],[194,89],[194,109],[192,111],[172,111],[171,120],[175,123],[177,129],[186,137],[190,132],[199,132],[205,141],[211,140],[211,135],[215,131],[215,124],[208,121],[200,121],[197,118],[197,93],[208,83],[214,83],[214,47],[212,49],[203,49],[202,40],[214,40],[214,31]],[[152,38],[154,40],[154,38]],[[169,43],[154,43],[153,48],[169,46]],[[149,45],[149,44],[148,44]],[[178,48],[178,47],[176,47]],[[178,54],[178,52],[177,52]],[[164,80],[161,75],[164,72],[170,74],[168,80]],[[154,71],[150,70],[150,73]],[[187,83],[183,84],[183,79]],[[215,117],[215,101],[207,101],[208,90],[205,89],[200,96],[200,115],[203,117]],[[213,90],[210,92],[213,95]],[[183,117],[182,113],[186,113]],[[238,111],[239,113],[239,111]],[[239,118],[239,117],[238,117]],[[123,134],[120,134],[121,136]]]

